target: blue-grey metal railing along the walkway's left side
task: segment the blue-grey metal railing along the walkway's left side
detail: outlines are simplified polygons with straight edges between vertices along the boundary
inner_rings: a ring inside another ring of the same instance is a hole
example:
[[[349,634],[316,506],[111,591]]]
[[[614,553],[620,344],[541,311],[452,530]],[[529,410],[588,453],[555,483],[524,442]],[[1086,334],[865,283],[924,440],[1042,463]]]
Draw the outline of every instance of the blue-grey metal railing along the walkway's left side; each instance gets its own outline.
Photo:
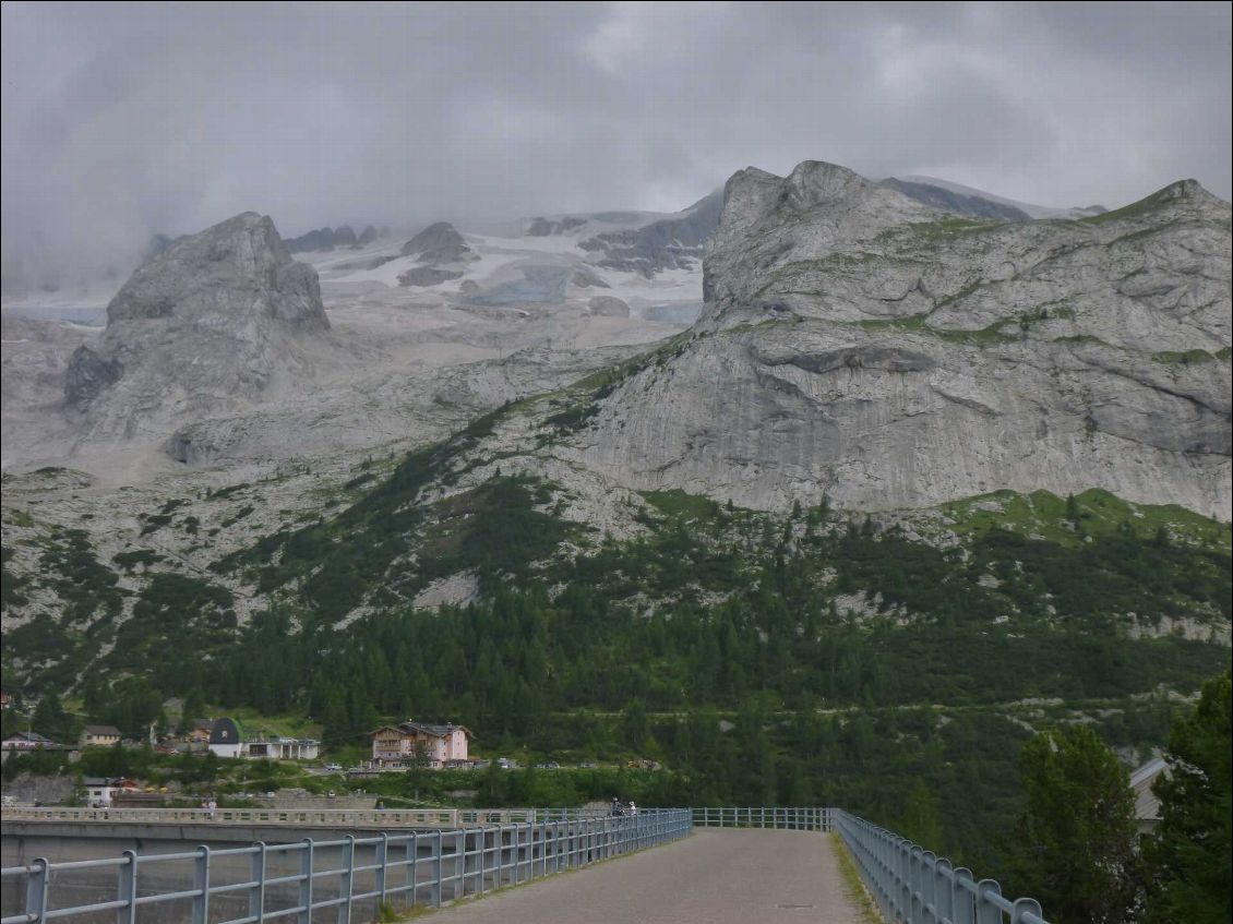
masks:
[[[339,924],[349,924],[356,912],[376,919],[385,906],[440,907],[677,840],[692,828],[689,809],[666,808],[625,818],[544,819],[226,850],[126,850],[105,860],[38,859],[0,870],[5,904],[12,899],[14,910],[21,908],[0,918],[0,924],[83,918],[134,924],[138,909],[150,906],[163,906],[165,920],[192,924],[311,924],[314,910],[337,908]],[[76,873],[101,873],[110,886],[73,883]],[[170,882],[175,885],[169,888]],[[65,904],[62,891],[83,888],[104,890],[111,897]]]

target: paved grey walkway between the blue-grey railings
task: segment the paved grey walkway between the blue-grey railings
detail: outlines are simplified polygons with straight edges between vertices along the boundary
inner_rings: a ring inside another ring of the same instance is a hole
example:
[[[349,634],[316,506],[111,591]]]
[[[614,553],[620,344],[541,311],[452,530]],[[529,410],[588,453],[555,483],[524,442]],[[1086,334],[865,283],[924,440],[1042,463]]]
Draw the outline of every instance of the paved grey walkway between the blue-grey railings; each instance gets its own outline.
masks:
[[[440,924],[866,924],[834,838],[716,830],[444,908]]]

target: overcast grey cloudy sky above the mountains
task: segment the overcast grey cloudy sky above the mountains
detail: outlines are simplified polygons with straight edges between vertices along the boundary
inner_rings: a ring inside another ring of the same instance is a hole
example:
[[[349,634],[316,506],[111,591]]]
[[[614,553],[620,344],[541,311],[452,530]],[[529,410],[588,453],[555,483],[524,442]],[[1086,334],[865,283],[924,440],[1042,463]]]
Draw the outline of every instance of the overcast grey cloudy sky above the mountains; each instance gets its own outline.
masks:
[[[746,165],[1231,195],[1231,5],[2,6],[6,262],[254,209],[681,208]]]

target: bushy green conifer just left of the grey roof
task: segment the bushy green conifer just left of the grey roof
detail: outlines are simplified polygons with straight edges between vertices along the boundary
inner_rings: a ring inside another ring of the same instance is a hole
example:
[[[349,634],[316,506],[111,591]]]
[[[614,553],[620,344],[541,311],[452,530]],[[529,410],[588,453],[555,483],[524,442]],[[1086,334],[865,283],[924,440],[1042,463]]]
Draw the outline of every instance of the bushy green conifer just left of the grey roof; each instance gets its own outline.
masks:
[[[1142,904],[1134,795],[1124,768],[1086,726],[1052,731],[1020,756],[1027,808],[1007,865],[1055,924],[1122,924]]]

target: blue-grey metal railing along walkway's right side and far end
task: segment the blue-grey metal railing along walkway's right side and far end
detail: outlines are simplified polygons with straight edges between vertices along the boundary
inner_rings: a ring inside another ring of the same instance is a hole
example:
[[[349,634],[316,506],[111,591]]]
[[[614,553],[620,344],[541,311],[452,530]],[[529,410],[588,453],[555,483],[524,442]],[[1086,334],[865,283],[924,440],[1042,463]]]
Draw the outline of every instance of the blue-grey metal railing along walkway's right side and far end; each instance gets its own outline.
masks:
[[[857,872],[895,924],[1048,924],[1034,898],[1007,899],[994,880],[925,850],[841,808],[694,808],[697,828],[835,832]]]

